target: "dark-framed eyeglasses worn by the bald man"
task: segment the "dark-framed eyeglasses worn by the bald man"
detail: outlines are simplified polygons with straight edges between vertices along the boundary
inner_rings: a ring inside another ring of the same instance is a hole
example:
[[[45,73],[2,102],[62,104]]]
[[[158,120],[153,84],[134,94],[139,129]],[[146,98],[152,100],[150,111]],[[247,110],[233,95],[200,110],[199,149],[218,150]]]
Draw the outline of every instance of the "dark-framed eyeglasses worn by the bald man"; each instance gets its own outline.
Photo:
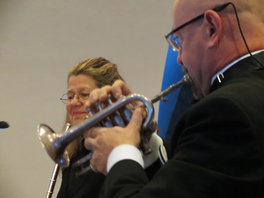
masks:
[[[230,3],[225,3],[223,5],[218,5],[216,6],[214,9],[215,12],[220,12],[221,10],[225,9]],[[172,50],[174,51],[179,51],[181,49],[181,44],[180,44],[180,40],[178,37],[175,37],[173,34],[177,31],[179,31],[180,29],[184,28],[185,26],[201,19],[204,17],[204,13],[189,20],[188,22],[182,24],[181,26],[177,27],[176,29],[172,30],[169,34],[165,35],[165,38],[167,40],[167,42],[169,43],[169,46],[171,46]]]

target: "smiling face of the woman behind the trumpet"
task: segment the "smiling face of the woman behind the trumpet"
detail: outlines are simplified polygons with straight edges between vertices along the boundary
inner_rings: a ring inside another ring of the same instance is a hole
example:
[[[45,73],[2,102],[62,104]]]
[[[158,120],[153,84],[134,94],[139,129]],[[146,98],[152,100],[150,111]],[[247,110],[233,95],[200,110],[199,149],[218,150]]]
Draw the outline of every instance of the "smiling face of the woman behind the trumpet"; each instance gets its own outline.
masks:
[[[90,76],[78,75],[71,76],[68,82],[68,91],[70,94],[77,94],[81,90],[91,92],[93,89],[98,88],[95,80]],[[72,125],[82,122],[86,115],[84,103],[86,100],[78,100],[77,95],[74,95],[73,100],[66,104],[66,110],[69,114]]]

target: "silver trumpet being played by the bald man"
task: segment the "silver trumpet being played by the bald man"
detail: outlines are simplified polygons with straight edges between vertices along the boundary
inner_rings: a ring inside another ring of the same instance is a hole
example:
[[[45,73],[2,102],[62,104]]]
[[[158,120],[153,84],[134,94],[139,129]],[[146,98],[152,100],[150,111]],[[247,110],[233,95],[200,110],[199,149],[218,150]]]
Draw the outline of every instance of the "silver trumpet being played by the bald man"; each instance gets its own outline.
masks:
[[[191,83],[191,79],[188,75],[185,75],[179,82],[170,85],[167,89],[154,96],[153,99],[139,94],[132,94],[128,96],[121,96],[116,102],[112,102],[111,97],[108,97],[109,106],[105,109],[101,108],[101,103],[97,103],[99,112],[93,114],[90,118],[87,118],[78,125],[72,126],[68,131],[56,134],[50,127],[45,124],[40,124],[37,128],[39,139],[42,146],[46,149],[46,152],[50,158],[57,163],[60,167],[69,166],[69,158],[64,154],[66,146],[73,141],[73,139],[79,137],[81,134],[88,131],[91,127],[98,124],[104,127],[122,126],[125,127],[131,119],[132,111],[128,105],[134,101],[141,101],[146,110],[146,118],[142,124],[141,130],[141,144],[140,148],[144,154],[151,152],[151,148],[148,145],[147,140],[144,138],[144,133],[151,131],[152,133],[156,129],[156,121],[154,118],[153,103],[159,100],[165,100],[165,96],[171,92],[174,92],[182,84]],[[87,110],[90,111],[90,110]],[[92,112],[90,112],[92,113]]]

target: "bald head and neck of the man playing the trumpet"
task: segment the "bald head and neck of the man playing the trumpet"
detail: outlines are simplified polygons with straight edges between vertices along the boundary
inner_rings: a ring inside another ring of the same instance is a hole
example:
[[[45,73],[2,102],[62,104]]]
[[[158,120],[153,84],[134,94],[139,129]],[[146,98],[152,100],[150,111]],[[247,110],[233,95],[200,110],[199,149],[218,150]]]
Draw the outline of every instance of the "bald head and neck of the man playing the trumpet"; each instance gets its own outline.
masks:
[[[238,27],[235,10],[228,5],[219,12],[212,9],[226,0],[176,0],[173,28],[204,13],[203,18],[174,33],[180,39],[178,63],[188,69],[203,95],[210,90],[212,76],[235,59],[248,54]],[[232,0],[249,49],[264,49],[264,1]]]

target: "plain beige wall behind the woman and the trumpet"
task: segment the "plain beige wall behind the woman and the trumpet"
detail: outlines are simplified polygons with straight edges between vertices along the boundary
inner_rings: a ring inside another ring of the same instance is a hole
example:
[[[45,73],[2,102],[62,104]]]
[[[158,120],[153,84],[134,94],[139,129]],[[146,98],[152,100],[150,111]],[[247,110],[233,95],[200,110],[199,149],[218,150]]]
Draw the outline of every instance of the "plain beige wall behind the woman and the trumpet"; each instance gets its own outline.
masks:
[[[105,57],[136,93],[159,92],[173,2],[0,0],[0,121],[11,125],[0,130],[0,197],[45,196],[54,163],[37,125],[61,131],[59,98],[79,61]]]

